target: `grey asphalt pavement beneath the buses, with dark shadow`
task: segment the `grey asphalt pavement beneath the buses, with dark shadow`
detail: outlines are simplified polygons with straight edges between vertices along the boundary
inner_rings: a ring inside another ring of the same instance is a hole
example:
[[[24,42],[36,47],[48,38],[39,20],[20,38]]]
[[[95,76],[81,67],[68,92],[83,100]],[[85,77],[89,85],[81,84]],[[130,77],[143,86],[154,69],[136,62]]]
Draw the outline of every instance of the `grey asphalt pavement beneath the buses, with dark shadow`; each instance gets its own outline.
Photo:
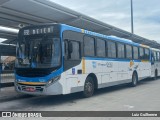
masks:
[[[14,87],[7,87],[0,90],[0,111],[160,111],[159,92],[160,79],[143,80],[136,87],[119,85],[100,89],[90,98],[83,98],[81,93],[32,96],[17,93]],[[96,118],[92,120],[94,119]],[[98,119],[123,120],[122,118]],[[130,118],[129,120],[132,119],[144,120],[144,118]],[[153,118],[153,120],[158,120],[158,118]]]

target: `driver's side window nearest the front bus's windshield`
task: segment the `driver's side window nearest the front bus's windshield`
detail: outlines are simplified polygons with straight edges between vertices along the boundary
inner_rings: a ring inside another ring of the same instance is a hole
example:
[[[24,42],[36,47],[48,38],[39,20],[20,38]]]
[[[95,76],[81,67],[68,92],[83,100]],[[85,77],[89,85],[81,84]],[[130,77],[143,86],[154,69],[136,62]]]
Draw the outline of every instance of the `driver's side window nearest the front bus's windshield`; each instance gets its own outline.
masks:
[[[80,43],[77,41],[65,41],[65,59],[79,60],[80,59]]]

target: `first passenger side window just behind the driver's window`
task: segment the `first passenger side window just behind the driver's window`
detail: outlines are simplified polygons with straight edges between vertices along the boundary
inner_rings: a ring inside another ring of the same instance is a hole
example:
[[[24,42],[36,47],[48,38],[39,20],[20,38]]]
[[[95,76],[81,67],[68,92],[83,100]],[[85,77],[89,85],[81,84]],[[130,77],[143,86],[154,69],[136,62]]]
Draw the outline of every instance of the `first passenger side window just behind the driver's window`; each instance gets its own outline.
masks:
[[[84,55],[95,56],[95,40],[92,37],[84,37]]]

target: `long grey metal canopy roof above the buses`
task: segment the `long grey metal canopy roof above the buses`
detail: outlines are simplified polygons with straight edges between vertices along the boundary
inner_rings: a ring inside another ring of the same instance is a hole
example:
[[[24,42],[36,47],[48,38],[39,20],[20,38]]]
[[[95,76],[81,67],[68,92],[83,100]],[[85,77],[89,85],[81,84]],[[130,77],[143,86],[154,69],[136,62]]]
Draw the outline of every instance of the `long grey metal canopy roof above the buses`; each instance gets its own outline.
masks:
[[[22,26],[42,23],[64,23],[105,35],[114,35],[134,42],[160,48],[156,41],[124,31],[100,20],[93,19],[70,10],[49,0],[1,0],[0,25],[19,29]],[[16,39],[15,34],[3,33],[0,37],[8,38],[4,43]],[[13,39],[12,39],[13,38]]]

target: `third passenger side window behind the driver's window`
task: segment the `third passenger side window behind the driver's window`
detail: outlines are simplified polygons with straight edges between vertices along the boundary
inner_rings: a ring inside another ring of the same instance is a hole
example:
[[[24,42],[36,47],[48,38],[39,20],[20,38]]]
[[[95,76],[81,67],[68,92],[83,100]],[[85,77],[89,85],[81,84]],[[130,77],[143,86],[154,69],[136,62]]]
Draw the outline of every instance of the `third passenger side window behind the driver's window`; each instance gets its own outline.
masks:
[[[116,43],[112,41],[107,42],[107,48],[108,48],[108,57],[110,58],[116,58]]]

